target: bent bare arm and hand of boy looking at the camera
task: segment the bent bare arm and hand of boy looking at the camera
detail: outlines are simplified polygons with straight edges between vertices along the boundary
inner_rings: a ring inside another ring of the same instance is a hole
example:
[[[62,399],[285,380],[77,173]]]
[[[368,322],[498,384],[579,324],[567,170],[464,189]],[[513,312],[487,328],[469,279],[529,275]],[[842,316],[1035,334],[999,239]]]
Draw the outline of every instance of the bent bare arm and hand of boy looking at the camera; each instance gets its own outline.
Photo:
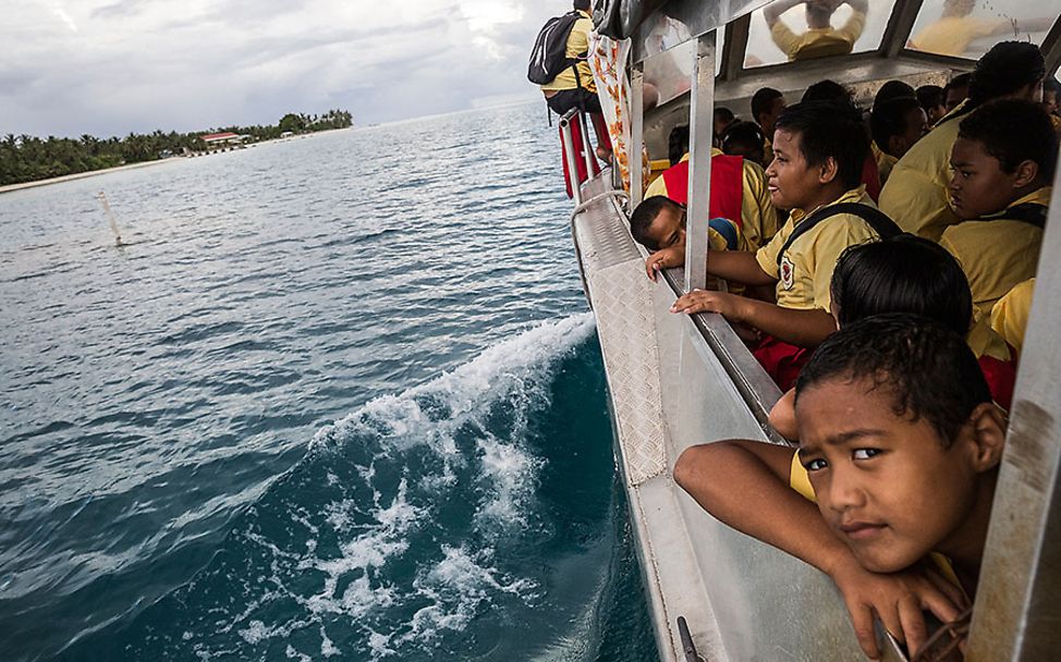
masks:
[[[878,575],[863,568],[833,535],[818,508],[789,488],[794,451],[755,441],[722,441],[687,449],[674,480],[719,520],[802,559],[829,575],[843,594],[863,651],[878,659],[874,614],[911,651],[926,638],[923,609],[943,622],[963,604],[961,591],[925,572]]]

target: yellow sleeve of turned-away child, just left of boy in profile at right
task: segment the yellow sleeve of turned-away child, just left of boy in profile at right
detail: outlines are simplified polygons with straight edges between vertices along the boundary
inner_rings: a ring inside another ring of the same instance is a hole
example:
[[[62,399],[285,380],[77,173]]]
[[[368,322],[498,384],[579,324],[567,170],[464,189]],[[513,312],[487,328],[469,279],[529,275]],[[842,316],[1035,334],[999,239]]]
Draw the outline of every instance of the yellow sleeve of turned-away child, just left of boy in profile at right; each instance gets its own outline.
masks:
[[[899,226],[934,242],[958,217],[947,203],[947,191],[931,176],[903,164],[900,159],[880,192],[880,210]]]

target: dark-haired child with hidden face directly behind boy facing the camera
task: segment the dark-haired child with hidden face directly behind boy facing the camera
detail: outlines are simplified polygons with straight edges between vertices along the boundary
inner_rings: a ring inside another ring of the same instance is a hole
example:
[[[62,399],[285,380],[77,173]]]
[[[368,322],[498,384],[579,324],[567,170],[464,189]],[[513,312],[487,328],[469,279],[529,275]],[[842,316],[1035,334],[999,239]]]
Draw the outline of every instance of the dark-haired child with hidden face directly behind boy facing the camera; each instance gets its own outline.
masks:
[[[973,320],[973,297],[961,265],[939,244],[912,234],[853,246],[832,272],[832,315],[843,328],[887,312],[932,319],[965,338],[995,402],[1009,408],[1016,366],[1005,342],[984,318]],[[795,393],[789,391],[770,412],[770,425],[796,439]]]

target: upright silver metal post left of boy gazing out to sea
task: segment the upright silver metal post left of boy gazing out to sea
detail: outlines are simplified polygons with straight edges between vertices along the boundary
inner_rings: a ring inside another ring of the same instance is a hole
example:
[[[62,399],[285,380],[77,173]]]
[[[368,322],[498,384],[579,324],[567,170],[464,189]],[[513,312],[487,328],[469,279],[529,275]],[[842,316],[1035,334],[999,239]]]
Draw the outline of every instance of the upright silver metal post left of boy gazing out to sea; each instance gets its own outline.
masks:
[[[688,210],[685,228],[685,291],[707,287],[711,146],[715,137],[715,30],[696,41],[690,93]]]

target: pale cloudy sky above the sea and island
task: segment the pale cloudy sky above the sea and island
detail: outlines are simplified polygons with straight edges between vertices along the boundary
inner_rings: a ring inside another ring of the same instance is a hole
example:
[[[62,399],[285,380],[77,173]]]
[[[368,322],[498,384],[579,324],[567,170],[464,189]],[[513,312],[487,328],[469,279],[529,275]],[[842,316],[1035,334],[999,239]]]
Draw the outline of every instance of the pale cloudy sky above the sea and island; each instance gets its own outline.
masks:
[[[357,124],[537,94],[526,58],[570,0],[8,0],[0,135]]]

